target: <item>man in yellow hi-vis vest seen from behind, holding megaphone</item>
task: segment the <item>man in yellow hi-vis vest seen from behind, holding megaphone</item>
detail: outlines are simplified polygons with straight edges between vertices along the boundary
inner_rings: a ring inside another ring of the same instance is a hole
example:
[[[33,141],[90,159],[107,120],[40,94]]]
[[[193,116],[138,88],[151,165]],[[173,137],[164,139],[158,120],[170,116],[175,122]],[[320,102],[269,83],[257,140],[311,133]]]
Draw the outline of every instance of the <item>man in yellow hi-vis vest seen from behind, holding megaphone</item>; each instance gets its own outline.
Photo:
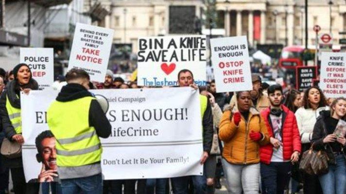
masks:
[[[56,138],[56,162],[63,194],[102,194],[99,137],[107,138],[111,125],[89,89],[86,71],[71,69],[47,112]]]

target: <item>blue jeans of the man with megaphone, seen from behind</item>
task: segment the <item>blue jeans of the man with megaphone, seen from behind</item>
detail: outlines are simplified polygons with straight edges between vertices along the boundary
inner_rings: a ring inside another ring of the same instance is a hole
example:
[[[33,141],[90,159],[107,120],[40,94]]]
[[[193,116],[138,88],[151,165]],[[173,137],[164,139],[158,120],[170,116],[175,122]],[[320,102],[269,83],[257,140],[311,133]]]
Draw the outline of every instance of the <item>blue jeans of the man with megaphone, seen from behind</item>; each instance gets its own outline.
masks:
[[[102,194],[102,174],[83,178],[61,179],[63,194]]]

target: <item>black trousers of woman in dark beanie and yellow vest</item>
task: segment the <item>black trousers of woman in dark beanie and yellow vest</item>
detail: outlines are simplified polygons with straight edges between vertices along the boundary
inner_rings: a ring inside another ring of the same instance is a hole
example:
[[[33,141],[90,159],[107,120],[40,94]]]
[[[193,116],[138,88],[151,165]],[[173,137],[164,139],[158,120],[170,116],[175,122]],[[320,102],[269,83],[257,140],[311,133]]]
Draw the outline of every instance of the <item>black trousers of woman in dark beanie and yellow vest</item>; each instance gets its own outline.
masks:
[[[15,194],[38,194],[40,183],[26,183],[23,168],[11,168]]]

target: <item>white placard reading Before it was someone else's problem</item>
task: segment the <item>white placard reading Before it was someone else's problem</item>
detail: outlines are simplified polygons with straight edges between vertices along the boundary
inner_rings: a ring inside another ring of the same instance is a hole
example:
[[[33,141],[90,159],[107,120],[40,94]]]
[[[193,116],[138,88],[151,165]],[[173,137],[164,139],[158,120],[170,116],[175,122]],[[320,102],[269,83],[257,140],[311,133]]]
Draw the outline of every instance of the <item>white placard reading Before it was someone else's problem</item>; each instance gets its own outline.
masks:
[[[322,52],[320,88],[326,97],[346,97],[346,53]]]

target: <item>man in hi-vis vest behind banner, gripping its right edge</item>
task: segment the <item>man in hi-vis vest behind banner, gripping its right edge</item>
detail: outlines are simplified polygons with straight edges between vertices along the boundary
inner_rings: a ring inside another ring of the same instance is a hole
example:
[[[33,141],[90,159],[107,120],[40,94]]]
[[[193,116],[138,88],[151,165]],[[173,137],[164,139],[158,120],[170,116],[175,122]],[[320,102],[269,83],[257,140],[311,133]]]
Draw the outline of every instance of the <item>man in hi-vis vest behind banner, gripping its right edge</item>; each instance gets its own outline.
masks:
[[[193,74],[188,69],[180,70],[178,73],[178,85],[180,87],[194,85]],[[203,127],[203,153],[201,157],[201,164],[204,164],[209,156],[213,138],[213,116],[211,113],[211,106],[207,97],[200,95],[202,127]],[[194,192],[196,194],[206,194],[207,178],[204,175],[201,176],[186,176],[171,178],[173,184],[174,194],[187,194],[189,178],[192,179]]]

